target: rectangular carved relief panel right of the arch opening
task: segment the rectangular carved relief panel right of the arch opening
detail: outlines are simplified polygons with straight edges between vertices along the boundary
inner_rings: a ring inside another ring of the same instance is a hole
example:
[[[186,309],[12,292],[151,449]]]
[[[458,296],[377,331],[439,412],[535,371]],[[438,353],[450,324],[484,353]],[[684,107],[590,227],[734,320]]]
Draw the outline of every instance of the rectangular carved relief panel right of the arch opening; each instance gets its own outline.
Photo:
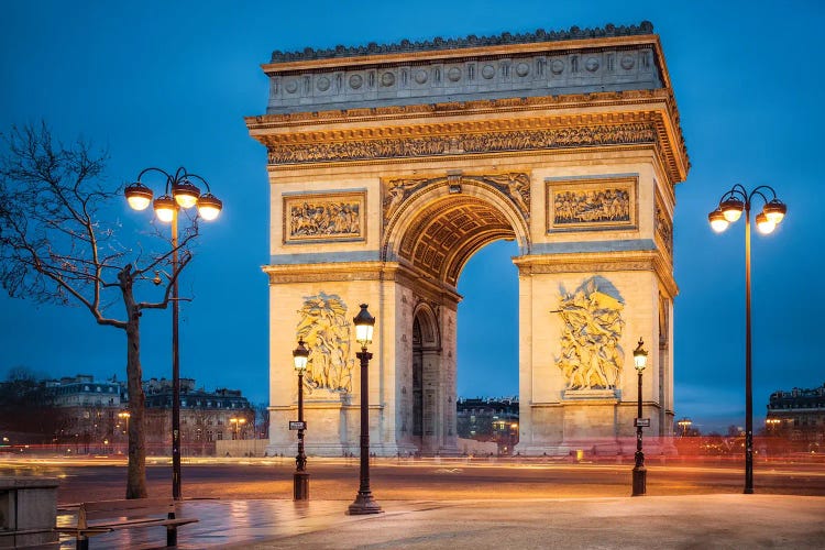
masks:
[[[547,232],[636,229],[636,176],[547,183]]]

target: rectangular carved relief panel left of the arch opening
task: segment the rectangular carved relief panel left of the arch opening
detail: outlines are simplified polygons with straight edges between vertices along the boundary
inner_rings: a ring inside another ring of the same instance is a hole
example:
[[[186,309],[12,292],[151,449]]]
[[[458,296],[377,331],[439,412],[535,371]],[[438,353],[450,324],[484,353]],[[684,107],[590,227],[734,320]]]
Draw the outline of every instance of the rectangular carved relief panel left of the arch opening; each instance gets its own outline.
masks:
[[[284,244],[363,241],[365,226],[363,191],[284,196]]]

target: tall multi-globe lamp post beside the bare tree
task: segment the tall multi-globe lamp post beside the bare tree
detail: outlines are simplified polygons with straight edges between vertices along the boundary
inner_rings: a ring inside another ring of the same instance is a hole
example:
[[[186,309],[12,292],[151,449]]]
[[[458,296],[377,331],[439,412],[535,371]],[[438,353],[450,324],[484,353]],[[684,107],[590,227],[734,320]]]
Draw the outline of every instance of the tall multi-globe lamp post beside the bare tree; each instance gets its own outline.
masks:
[[[141,178],[148,172],[157,172],[166,177],[165,191],[161,197],[152,201],[152,190],[141,183]],[[201,195],[200,189],[190,179],[204,183],[207,193]],[[183,498],[180,494],[180,356],[178,349],[178,234],[177,217],[180,208],[197,206],[198,216],[207,221],[215,220],[223,208],[223,204],[211,194],[209,184],[197,174],[190,174],[183,166],[175,174],[155,167],[143,169],[138,175],[138,180],[124,190],[129,206],[134,210],[145,210],[150,202],[155,210],[157,219],[172,223],[172,497],[176,501]],[[156,279],[160,284],[160,278]]]

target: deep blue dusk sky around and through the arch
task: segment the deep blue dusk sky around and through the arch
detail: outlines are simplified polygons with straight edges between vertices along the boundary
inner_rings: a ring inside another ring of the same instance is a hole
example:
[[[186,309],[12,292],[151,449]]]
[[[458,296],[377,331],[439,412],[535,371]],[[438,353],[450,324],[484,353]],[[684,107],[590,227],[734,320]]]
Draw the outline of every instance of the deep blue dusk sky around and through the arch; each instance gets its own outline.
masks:
[[[37,1],[0,3],[0,131],[45,120],[57,136],[108,148],[108,179],[147,166],[207,178],[224,211],[205,223],[182,293],[182,374],[267,400],[266,156],[243,117],[265,111],[260,65],[273,50],[403,38],[653,23],[692,169],[676,188],[675,414],[704,431],[744,426],[744,228],[717,235],[707,212],[734,184],[771,185],[789,206],[755,234],[754,402],[825,382],[822,354],[822,2]],[[127,224],[150,213],[116,205]],[[130,237],[131,239],[131,237]],[[124,238],[125,240],[125,238]],[[127,244],[133,244],[129,242]],[[460,290],[459,394],[518,392],[513,243],[468,264]],[[146,376],[169,376],[169,312],[142,318]],[[125,377],[125,336],[79,308],[0,297],[0,376]],[[283,360],[290,361],[289,350]]]

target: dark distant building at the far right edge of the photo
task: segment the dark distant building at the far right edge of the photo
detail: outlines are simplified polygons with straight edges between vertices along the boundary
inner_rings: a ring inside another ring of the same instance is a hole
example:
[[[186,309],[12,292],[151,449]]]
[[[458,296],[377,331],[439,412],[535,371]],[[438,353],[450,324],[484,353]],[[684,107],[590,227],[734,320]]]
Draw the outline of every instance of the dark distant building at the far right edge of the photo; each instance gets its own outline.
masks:
[[[771,394],[766,418],[768,435],[818,446],[825,439],[825,384],[813,389]]]

